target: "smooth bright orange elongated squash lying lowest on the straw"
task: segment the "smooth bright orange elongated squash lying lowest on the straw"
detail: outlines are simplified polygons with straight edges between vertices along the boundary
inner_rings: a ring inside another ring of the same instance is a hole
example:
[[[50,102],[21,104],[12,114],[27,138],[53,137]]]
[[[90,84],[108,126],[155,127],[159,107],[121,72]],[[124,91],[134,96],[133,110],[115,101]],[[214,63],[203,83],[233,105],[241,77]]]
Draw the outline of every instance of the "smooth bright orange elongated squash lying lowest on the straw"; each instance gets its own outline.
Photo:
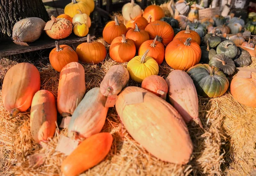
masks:
[[[110,133],[99,133],[85,139],[62,162],[62,173],[64,176],[76,176],[99,164],[108,155],[112,142]]]

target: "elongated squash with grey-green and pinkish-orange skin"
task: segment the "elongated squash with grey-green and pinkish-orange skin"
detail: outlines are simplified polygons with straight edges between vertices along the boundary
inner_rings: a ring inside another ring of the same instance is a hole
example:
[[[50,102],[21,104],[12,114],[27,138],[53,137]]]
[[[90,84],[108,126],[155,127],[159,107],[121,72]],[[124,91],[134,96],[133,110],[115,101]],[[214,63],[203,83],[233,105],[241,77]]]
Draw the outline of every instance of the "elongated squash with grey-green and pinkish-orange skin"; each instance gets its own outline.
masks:
[[[73,139],[88,138],[102,130],[108,107],[107,97],[102,95],[99,87],[90,89],[76,107],[68,125],[67,136]]]

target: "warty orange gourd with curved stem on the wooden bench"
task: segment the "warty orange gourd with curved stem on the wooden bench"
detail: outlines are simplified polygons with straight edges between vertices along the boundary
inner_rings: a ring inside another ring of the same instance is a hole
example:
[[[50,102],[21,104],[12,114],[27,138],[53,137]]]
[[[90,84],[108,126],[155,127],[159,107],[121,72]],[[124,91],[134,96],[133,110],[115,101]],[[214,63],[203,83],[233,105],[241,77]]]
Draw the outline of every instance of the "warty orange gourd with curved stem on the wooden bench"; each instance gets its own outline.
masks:
[[[70,20],[52,16],[51,21],[53,22],[52,28],[45,31],[50,38],[55,40],[63,39],[72,33],[73,25]]]

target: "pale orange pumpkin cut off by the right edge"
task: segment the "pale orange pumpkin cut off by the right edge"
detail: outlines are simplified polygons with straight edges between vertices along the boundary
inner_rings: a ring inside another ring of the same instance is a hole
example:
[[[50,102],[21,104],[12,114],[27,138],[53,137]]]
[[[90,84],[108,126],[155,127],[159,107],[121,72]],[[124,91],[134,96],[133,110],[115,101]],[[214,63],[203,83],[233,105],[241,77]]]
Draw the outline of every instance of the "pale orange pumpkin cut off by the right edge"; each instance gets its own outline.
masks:
[[[233,78],[230,92],[239,103],[256,107],[256,73],[251,72],[251,78],[239,78],[237,76]]]

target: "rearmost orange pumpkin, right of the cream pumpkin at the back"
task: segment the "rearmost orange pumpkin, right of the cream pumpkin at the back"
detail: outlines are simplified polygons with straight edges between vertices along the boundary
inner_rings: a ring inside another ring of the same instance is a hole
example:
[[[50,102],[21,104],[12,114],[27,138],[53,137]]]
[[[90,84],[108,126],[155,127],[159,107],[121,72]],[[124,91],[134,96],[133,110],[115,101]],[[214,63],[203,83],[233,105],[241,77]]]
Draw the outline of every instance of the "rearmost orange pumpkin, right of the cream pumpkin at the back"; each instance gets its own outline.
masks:
[[[144,9],[143,17],[148,20],[148,23],[160,20],[165,14],[163,9],[157,5],[150,5]]]

